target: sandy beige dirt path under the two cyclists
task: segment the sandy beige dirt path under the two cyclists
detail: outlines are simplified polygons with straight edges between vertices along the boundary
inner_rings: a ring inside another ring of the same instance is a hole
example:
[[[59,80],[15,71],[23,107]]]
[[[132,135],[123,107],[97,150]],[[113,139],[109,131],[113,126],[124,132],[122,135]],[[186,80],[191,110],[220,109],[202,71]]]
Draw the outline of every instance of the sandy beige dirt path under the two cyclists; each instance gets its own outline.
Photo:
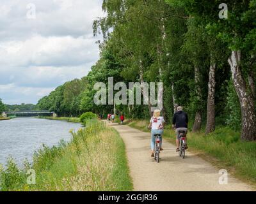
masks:
[[[175,146],[163,141],[160,163],[150,157],[150,133],[129,126],[113,126],[122,136],[134,191],[253,191],[248,184],[228,175],[228,184],[219,184],[219,170],[195,154],[181,159]]]

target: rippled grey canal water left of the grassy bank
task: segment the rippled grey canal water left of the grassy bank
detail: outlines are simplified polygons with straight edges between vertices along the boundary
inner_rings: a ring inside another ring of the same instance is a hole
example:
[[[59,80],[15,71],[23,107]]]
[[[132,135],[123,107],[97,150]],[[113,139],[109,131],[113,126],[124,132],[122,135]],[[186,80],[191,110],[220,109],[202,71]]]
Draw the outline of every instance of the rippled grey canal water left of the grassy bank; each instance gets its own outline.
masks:
[[[35,150],[42,144],[52,147],[60,140],[69,142],[70,129],[77,131],[81,124],[60,120],[16,118],[0,121],[0,164],[12,156],[19,166],[24,159],[32,161]]]

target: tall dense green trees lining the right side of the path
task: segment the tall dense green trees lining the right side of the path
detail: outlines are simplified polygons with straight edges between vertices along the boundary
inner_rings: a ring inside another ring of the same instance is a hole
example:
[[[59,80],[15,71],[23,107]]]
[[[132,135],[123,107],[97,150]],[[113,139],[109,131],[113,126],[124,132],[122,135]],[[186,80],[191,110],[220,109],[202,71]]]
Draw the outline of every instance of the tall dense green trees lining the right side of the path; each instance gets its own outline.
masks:
[[[60,115],[124,112],[148,118],[148,106],[96,106],[93,85],[163,82],[163,115],[170,122],[184,106],[194,132],[215,126],[256,140],[256,0],[105,0],[106,17],[93,22],[102,33],[99,61],[88,76],[58,87],[38,107]],[[143,94],[143,89],[142,89]]]

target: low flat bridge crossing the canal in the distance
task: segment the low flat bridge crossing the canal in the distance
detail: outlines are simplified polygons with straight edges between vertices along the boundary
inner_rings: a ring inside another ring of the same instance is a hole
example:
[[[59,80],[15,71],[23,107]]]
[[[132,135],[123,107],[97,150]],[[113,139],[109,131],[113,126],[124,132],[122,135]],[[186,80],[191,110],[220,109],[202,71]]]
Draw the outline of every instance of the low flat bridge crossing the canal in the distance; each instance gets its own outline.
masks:
[[[51,116],[56,117],[56,113],[47,110],[23,110],[23,111],[9,111],[3,112],[3,117],[35,117],[35,116]]]

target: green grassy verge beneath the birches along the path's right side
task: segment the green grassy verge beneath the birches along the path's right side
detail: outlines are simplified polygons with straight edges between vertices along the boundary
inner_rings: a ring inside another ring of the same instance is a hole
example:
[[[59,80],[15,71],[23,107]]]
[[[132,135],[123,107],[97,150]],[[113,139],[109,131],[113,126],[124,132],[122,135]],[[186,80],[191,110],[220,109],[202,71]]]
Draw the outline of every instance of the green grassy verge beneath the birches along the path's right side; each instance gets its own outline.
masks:
[[[132,128],[149,132],[148,121],[133,120]],[[166,126],[164,138],[175,143],[175,132]],[[164,143],[163,143],[164,145]],[[230,128],[216,128],[214,133],[188,133],[189,150],[198,153],[217,167],[225,168],[237,178],[256,185],[256,142],[241,142],[240,134]]]

